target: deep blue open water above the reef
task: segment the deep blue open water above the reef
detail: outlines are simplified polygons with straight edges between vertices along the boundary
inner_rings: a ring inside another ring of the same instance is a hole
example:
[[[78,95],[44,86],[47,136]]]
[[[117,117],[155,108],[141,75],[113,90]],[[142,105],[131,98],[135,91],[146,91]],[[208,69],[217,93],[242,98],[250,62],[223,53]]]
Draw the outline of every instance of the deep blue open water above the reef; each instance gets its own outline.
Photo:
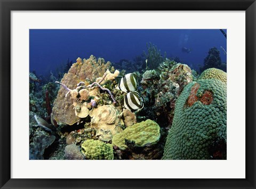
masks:
[[[224,30],[227,32],[227,30]],[[228,33],[227,33],[228,35]],[[221,61],[227,62],[227,40],[218,29],[198,30],[41,30],[29,31],[29,71],[38,75],[54,72],[60,65],[77,57],[90,55],[104,58],[105,61],[119,62],[132,60],[135,56],[147,53],[146,43],[151,42],[166,51],[167,57],[179,57],[181,63],[197,69],[203,65],[210,48],[220,51]],[[190,53],[182,47],[191,49]]]

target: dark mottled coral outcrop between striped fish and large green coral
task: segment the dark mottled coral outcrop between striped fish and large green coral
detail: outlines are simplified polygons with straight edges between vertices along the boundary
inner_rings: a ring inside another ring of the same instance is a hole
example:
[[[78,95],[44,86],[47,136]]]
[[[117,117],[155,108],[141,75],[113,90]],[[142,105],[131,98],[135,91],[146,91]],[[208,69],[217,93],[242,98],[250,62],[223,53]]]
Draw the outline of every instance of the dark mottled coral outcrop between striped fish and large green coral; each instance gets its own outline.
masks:
[[[186,64],[167,60],[157,70],[146,71],[141,81],[145,99],[141,115],[171,126],[175,102],[183,88],[193,81],[191,69]]]

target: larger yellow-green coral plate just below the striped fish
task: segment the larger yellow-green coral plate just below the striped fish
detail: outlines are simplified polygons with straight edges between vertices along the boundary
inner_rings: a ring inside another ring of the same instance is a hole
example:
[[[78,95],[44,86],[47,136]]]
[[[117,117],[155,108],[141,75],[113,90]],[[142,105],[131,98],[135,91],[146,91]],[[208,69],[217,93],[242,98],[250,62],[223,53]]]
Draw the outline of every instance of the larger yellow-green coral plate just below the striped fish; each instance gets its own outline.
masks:
[[[125,139],[134,141],[137,147],[143,147],[146,144],[155,144],[160,139],[160,127],[156,122],[147,119],[144,122],[129,126],[123,132],[114,135],[112,143],[124,150],[127,148]]]

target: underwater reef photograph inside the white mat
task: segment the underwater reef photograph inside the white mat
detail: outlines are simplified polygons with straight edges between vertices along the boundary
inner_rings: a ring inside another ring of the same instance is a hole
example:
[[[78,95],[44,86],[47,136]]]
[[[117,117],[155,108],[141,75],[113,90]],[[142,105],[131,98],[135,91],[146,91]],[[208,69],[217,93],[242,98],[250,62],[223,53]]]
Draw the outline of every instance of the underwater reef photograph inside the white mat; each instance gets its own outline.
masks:
[[[226,29],[30,29],[30,160],[226,160]]]

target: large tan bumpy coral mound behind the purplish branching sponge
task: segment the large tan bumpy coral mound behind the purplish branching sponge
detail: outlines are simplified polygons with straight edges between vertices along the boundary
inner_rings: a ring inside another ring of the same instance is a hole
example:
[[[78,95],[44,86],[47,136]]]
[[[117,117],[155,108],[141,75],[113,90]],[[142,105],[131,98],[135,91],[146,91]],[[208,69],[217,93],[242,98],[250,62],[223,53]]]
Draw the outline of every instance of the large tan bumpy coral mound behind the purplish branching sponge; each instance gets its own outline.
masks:
[[[97,59],[91,55],[89,59],[77,58],[77,62],[74,63],[67,74],[65,74],[61,80],[61,83],[65,84],[69,89],[76,89],[77,83],[83,81],[85,85],[95,81],[99,76],[110,69],[114,71],[111,63],[105,63],[103,58]],[[79,121],[79,117],[75,115],[73,98],[78,96],[78,92],[74,91],[74,94],[66,96],[66,89],[60,88],[57,98],[54,100],[52,109],[52,119],[55,119],[59,124],[73,125]],[[91,95],[90,95],[91,96]]]

